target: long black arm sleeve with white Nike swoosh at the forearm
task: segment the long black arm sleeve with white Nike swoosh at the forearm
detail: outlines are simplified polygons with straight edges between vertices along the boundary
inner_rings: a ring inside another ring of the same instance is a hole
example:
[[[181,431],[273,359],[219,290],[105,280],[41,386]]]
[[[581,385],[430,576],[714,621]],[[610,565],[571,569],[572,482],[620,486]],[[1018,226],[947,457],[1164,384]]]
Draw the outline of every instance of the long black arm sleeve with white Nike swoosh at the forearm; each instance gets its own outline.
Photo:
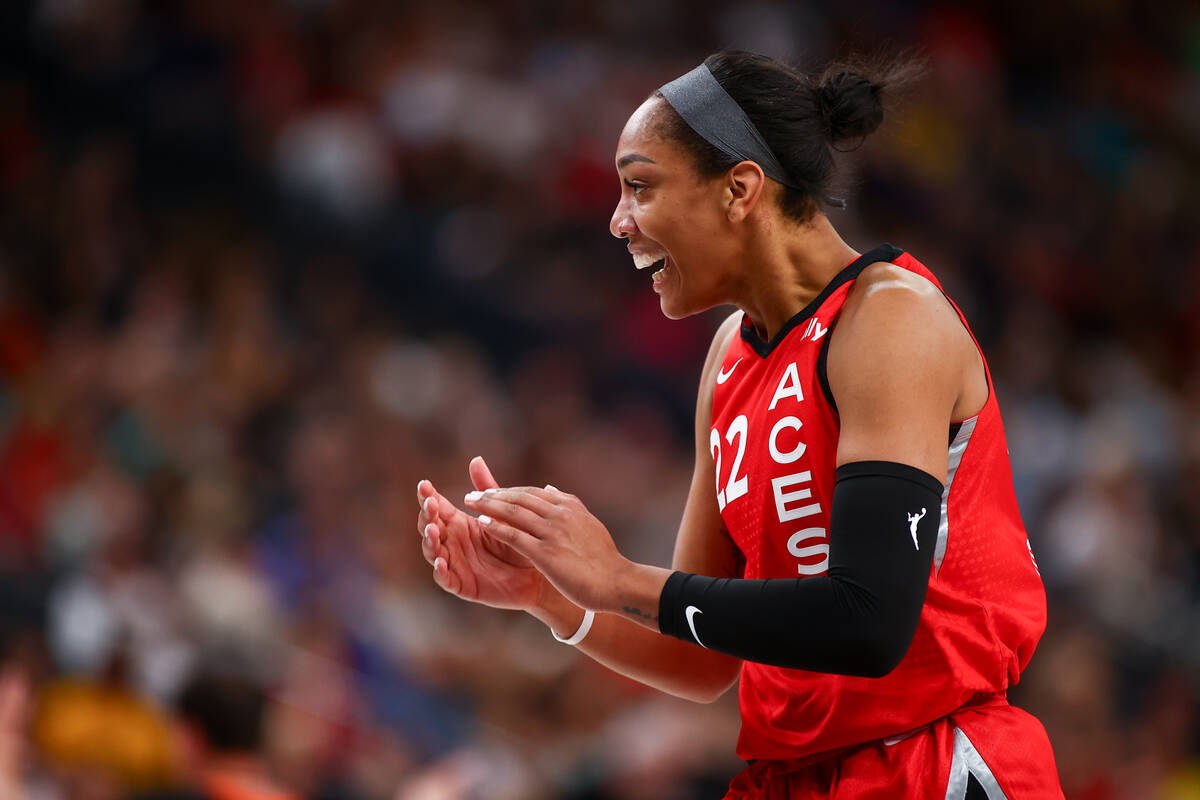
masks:
[[[662,633],[778,667],[880,678],[912,644],[941,524],[929,473],[870,461],[838,469],[829,570],[810,578],[706,578],[674,572],[659,600]]]

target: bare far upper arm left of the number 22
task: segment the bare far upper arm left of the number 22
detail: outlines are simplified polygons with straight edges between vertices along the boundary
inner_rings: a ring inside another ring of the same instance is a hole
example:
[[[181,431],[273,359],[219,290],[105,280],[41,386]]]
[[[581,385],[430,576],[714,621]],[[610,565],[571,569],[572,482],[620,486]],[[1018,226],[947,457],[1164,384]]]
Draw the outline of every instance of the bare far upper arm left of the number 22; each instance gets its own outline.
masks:
[[[700,391],[696,397],[696,461],[672,561],[672,566],[683,572],[742,577],[742,554],[730,539],[716,505],[716,476],[708,451],[716,373],[721,368],[730,343],[738,333],[740,320],[742,312],[734,312],[721,323],[708,349],[708,357],[704,360],[704,369],[700,378]]]

